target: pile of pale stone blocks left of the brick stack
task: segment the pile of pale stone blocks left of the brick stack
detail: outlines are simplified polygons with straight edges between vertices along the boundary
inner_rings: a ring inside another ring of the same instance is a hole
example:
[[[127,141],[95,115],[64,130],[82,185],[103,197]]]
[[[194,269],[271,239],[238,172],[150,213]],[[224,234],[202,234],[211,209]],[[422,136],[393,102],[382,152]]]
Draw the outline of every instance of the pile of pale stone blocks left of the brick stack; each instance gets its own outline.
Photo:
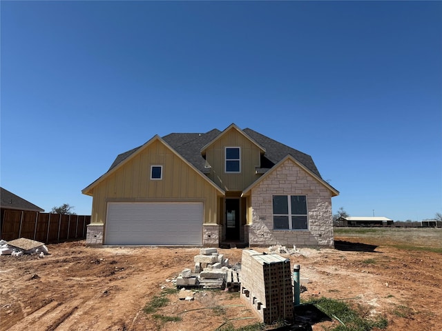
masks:
[[[195,255],[193,261],[195,269],[184,269],[175,279],[178,288],[227,288],[232,292],[240,289],[240,268],[231,268],[229,259],[218,254],[216,248],[201,248],[200,254]]]

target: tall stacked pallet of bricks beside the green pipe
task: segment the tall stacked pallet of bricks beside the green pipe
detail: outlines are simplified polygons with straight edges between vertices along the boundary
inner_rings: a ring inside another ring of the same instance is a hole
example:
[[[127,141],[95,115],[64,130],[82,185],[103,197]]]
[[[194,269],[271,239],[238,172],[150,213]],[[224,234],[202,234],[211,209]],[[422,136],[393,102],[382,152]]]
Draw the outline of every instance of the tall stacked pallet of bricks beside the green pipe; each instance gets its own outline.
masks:
[[[243,250],[241,298],[262,323],[293,321],[293,287],[289,259]]]

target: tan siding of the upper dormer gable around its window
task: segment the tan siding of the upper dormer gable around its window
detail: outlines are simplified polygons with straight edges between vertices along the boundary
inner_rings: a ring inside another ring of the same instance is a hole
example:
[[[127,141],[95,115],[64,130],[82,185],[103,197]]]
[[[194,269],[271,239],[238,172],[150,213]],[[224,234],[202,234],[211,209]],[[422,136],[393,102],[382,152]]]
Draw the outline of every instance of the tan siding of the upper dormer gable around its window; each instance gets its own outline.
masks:
[[[240,148],[240,172],[225,172],[225,148]],[[235,129],[220,137],[206,149],[206,161],[211,165],[209,177],[221,188],[230,191],[242,191],[256,181],[255,167],[260,166],[260,150],[255,143]]]

